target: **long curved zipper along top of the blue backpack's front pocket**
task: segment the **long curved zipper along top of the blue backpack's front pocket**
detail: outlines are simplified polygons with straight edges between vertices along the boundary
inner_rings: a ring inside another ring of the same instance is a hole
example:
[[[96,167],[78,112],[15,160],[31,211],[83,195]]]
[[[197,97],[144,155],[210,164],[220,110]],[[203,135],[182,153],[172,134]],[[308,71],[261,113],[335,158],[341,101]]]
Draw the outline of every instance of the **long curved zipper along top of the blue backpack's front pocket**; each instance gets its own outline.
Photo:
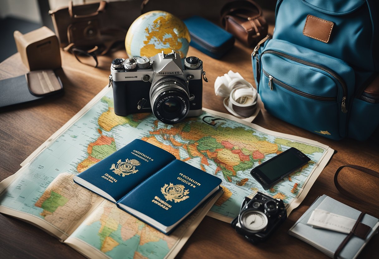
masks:
[[[282,56],[283,58],[290,59],[290,60],[298,62],[300,64],[304,64],[304,65],[310,66],[310,67],[315,67],[315,68],[323,70],[326,73],[328,73],[329,75],[333,76],[341,84],[341,87],[342,87],[342,90],[343,90],[343,97],[342,97],[342,102],[341,102],[341,110],[342,110],[343,113],[348,112],[348,110],[346,109],[346,97],[348,95],[348,87],[346,87],[345,81],[343,81],[343,79],[339,75],[337,75],[334,71],[332,71],[330,69],[327,69],[326,67],[320,66],[318,64],[315,64],[315,63],[312,63],[312,62],[308,62],[308,61],[305,61],[305,60],[302,60],[302,59],[299,59],[299,58],[295,58],[293,56],[290,56],[290,55],[287,55],[285,53],[282,53],[282,52],[279,52],[279,51],[275,51],[275,50],[265,50],[265,51],[263,51],[263,53],[260,55],[260,58],[262,59],[262,56],[264,54],[266,54],[266,53],[273,53],[275,55]],[[304,93],[304,92],[302,92],[302,93]],[[306,94],[306,93],[304,93],[304,94]],[[316,96],[316,95],[313,95],[313,96]],[[323,98],[330,98],[330,97],[323,97]]]

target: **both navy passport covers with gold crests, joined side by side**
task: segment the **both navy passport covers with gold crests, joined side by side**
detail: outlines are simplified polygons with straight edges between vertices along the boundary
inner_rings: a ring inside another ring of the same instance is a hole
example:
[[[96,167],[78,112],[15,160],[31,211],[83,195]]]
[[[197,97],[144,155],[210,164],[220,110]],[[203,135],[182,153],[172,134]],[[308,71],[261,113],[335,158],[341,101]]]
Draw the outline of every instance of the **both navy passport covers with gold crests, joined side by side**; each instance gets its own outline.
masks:
[[[74,182],[165,234],[222,189],[218,177],[143,140],[133,140]]]

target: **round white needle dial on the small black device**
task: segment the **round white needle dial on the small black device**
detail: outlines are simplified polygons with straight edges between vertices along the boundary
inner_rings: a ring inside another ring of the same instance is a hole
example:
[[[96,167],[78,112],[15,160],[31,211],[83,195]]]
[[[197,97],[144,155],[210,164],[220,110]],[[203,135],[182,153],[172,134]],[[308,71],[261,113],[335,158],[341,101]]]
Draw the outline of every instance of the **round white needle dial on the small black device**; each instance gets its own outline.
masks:
[[[238,221],[245,231],[251,233],[263,231],[268,223],[266,215],[255,209],[244,211]]]

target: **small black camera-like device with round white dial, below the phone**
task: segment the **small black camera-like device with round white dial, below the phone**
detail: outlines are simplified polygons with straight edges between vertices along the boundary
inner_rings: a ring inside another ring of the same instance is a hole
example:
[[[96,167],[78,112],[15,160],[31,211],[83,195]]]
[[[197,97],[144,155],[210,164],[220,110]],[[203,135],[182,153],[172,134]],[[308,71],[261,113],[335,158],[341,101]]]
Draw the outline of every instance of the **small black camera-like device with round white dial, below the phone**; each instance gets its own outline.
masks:
[[[252,199],[245,197],[241,211],[231,225],[252,243],[265,241],[287,218],[282,200],[257,192]]]

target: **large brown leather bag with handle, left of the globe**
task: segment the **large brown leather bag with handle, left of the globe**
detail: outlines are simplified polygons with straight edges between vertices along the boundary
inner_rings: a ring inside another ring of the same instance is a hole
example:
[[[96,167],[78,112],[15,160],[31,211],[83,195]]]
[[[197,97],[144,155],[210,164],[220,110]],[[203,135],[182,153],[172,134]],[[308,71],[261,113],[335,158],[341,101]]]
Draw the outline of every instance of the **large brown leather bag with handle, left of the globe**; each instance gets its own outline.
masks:
[[[64,50],[96,48],[105,54],[111,45],[124,41],[132,22],[140,15],[141,0],[72,5],[49,11],[55,33]]]

